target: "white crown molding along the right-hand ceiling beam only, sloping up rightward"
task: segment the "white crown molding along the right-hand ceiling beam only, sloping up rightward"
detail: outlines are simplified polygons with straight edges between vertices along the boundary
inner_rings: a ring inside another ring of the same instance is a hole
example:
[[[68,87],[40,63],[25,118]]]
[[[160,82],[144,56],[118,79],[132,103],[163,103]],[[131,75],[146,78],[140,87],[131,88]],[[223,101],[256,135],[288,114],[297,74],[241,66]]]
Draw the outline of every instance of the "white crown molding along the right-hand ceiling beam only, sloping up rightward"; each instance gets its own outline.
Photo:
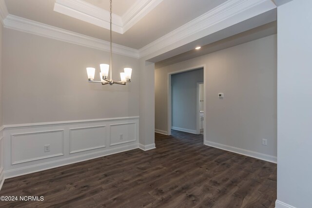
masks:
[[[229,25],[238,23],[242,19],[252,18],[274,8],[276,8],[276,5],[271,0],[228,0],[167,35],[140,48],[139,55],[140,57],[145,57],[170,45],[174,45],[176,48],[178,47],[177,44],[182,40],[187,39],[187,42],[192,42],[198,38],[213,34]],[[217,27],[211,29],[215,25]]]

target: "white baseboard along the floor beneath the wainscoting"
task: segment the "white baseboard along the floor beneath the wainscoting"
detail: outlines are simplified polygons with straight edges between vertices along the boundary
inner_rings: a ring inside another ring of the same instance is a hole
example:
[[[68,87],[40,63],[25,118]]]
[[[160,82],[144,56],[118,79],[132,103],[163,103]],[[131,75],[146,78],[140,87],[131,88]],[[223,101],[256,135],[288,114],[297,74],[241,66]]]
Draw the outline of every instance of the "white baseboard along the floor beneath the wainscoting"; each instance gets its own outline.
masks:
[[[78,155],[75,157],[70,157],[70,158],[65,158],[65,159],[60,159],[60,160],[54,160],[52,162],[47,162],[47,163],[40,163],[32,166],[27,166],[27,167],[22,167],[18,169],[13,169],[13,170],[7,170],[4,171],[4,178],[12,178],[20,175],[25,175],[33,172],[38,172],[42,170],[48,170],[52,168],[57,168],[60,166],[65,166],[73,163],[78,163],[86,160],[91,160],[95,159],[98,157],[103,157],[111,154],[116,154],[119,152],[123,151],[129,151],[129,150],[134,150],[137,149],[137,144],[133,145],[128,145],[124,147],[118,147],[114,149],[109,149],[109,150],[103,150],[103,151],[97,151],[97,152],[92,152],[88,154],[83,154],[83,155]]]

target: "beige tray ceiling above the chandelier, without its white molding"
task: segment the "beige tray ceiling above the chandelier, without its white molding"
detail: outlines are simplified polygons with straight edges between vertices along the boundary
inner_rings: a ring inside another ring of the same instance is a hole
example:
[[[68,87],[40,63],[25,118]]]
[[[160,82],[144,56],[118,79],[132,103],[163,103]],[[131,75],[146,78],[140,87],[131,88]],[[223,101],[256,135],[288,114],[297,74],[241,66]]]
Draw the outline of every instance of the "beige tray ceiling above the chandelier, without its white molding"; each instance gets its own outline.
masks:
[[[75,0],[60,0],[75,2]],[[108,10],[109,0],[84,0],[86,3]],[[154,2],[152,9],[136,19],[123,34],[113,32],[113,42],[140,49],[180,26],[212,10],[227,0],[113,0],[113,13],[123,16],[134,4]],[[109,30],[54,11],[56,0],[5,0],[10,15],[52,25],[93,38],[109,41]],[[156,4],[155,4],[156,2]],[[178,5],[178,6],[177,6]],[[113,19],[114,23],[114,19]]]

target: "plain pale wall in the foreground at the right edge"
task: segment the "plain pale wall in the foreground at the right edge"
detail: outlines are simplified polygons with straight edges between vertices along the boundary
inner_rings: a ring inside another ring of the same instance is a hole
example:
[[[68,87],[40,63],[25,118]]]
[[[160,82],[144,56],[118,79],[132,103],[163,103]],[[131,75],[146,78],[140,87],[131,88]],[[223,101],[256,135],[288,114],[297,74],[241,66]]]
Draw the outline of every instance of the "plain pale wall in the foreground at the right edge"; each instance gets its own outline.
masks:
[[[277,200],[295,208],[312,205],[311,8],[292,0],[277,10]]]

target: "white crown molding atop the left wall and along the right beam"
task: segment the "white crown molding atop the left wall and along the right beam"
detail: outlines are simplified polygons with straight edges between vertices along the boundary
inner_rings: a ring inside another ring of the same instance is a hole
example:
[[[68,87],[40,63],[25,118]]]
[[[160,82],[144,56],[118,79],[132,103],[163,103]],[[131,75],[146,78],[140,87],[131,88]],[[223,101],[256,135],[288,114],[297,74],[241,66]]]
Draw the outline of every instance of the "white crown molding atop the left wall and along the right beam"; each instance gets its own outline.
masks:
[[[81,0],[77,2],[80,1]],[[141,15],[144,15],[144,13],[148,12],[148,9],[151,9],[161,1],[162,0],[144,0],[141,1],[141,4],[135,4],[133,7],[143,7],[144,11],[141,11]],[[4,17],[3,14],[5,13],[3,13],[3,11],[7,11],[3,9],[1,10],[1,8],[3,8],[3,3],[4,0],[0,0],[0,18]],[[153,4],[153,6],[150,4]],[[132,15],[134,16],[136,16],[136,14],[139,15],[139,11],[135,12],[133,7],[131,7],[132,9],[129,11],[133,11]],[[4,8],[6,9],[6,7]],[[155,54],[157,53],[164,53],[163,50],[172,50],[183,44],[192,42],[198,38],[205,37],[218,30],[229,27],[243,20],[250,19],[274,8],[276,8],[276,5],[271,0],[228,0],[225,3],[208,11],[207,13],[199,16],[198,18],[193,19],[176,30],[168,33],[167,35],[156,39],[139,50],[113,43],[113,53],[135,58],[146,57],[150,55],[156,56]],[[127,18],[124,18],[130,19],[128,22],[129,24],[132,22],[131,19],[135,19],[135,17],[132,15],[127,13]],[[46,38],[53,38],[106,52],[110,51],[109,41],[92,38],[10,14],[7,15],[5,19],[3,19],[3,25],[6,28],[35,34]]]

